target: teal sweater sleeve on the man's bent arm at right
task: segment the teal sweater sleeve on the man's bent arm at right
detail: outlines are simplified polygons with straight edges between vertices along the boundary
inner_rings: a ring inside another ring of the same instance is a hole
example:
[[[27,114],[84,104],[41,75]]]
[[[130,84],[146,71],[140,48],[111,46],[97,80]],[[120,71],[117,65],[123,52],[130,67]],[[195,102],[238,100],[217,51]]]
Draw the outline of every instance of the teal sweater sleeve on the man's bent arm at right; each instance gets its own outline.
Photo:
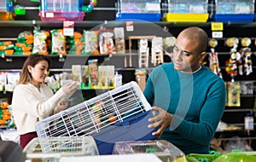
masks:
[[[214,136],[218,122],[224,113],[225,107],[225,87],[222,80],[218,80],[207,95],[207,100],[201,108],[199,123],[192,123],[181,119],[177,115],[173,115],[172,125],[181,123],[177,126],[176,131],[184,138],[205,144],[209,143]]]

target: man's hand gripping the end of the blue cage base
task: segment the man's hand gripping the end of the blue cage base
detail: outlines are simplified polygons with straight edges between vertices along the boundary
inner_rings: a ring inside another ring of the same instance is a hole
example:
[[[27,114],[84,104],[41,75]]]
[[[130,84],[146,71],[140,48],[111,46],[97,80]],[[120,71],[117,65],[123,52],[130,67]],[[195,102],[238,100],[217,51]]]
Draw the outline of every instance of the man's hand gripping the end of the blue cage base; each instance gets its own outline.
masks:
[[[148,124],[148,128],[156,128],[159,127],[158,130],[152,133],[152,136],[161,136],[166,129],[172,122],[172,114],[167,113],[166,110],[160,107],[152,107],[154,111],[158,114],[155,115],[153,118],[148,119],[148,122],[152,122],[153,124]]]

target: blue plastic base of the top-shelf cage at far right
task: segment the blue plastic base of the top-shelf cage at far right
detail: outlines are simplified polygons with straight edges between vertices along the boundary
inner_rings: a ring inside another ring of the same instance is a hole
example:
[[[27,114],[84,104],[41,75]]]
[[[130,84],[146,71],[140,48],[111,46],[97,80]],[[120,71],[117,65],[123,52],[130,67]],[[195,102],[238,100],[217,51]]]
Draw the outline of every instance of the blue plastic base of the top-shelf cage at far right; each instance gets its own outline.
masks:
[[[254,14],[214,14],[216,22],[253,22]]]

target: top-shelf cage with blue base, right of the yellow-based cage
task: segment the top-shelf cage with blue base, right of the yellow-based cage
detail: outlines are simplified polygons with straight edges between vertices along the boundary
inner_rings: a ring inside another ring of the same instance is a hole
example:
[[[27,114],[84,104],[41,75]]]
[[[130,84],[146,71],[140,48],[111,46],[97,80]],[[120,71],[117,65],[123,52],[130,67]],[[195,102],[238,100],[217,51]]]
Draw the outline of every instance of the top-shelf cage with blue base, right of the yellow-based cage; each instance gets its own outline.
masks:
[[[252,22],[254,20],[254,0],[215,0],[214,21]]]

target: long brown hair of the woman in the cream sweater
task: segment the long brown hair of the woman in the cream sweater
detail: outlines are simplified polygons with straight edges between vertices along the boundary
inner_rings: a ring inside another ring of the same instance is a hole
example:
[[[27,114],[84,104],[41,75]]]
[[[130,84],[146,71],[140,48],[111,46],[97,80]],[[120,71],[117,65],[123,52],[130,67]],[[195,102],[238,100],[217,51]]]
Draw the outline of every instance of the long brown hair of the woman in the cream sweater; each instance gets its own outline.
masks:
[[[20,73],[19,84],[27,84],[31,82],[32,76],[31,73],[28,72],[27,67],[35,67],[39,61],[47,61],[49,67],[51,66],[51,60],[49,59],[49,57],[45,55],[29,55],[23,64],[22,71]]]

